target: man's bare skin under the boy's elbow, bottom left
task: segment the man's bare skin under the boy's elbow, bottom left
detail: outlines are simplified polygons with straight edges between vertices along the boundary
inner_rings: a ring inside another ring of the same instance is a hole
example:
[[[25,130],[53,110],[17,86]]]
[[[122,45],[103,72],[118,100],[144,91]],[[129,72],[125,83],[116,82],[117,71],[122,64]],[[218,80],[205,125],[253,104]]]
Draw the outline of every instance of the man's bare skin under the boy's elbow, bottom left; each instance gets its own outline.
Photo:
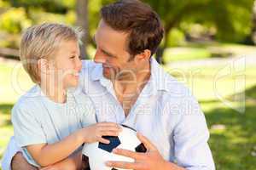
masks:
[[[37,167],[29,164],[21,152],[15,154],[11,161],[12,170],[38,170]]]

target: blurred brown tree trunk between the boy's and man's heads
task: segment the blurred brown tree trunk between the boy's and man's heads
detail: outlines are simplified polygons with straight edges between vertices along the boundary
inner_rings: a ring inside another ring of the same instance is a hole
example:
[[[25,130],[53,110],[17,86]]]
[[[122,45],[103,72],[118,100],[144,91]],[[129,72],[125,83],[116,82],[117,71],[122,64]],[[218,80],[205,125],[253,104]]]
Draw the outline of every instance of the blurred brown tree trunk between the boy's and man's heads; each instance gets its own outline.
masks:
[[[82,59],[89,59],[86,51],[86,46],[88,42],[89,26],[88,26],[88,0],[77,0],[76,6],[77,13],[77,26],[80,26],[84,31],[84,36],[82,37],[83,44],[80,45],[80,53]]]

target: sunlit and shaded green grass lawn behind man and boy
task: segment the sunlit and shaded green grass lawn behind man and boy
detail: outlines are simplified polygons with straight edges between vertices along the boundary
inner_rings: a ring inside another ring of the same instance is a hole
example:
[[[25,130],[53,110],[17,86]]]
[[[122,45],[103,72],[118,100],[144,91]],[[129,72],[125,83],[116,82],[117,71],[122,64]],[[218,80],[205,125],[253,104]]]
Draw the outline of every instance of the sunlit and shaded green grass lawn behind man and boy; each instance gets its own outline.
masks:
[[[15,101],[26,89],[32,87],[25,71],[18,69],[18,73],[12,74],[17,63],[0,63],[0,77],[4,80],[0,84],[0,158],[3,150],[13,135],[10,122],[10,110]],[[175,70],[168,70],[186,83],[200,100],[202,110],[207,117],[211,139],[209,141],[217,169],[225,170],[254,170],[256,167],[256,67],[247,67],[243,75],[246,77],[245,87],[232,88],[236,77],[230,75],[217,83],[214,88],[214,77],[221,66],[198,68],[186,68],[183,74]],[[196,72],[191,76],[191,71]],[[16,81],[12,75],[18,77]],[[183,75],[183,76],[182,76]],[[19,82],[16,87],[15,82]],[[233,109],[224,105],[216,94],[222,94],[223,99],[232,103]],[[236,107],[243,105],[232,96],[245,94],[246,102],[243,113],[235,111]],[[1,169],[1,168],[0,168]]]

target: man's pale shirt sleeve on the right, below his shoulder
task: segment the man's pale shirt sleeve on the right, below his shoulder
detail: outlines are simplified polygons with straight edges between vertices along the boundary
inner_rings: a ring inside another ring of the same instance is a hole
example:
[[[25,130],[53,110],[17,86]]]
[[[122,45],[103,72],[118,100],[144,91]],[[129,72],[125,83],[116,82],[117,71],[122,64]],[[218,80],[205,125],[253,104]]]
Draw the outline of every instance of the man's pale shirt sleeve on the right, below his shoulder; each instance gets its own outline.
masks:
[[[207,144],[209,132],[205,116],[194,97],[190,96],[182,103],[173,134],[177,164],[187,170],[214,170],[212,152]]]

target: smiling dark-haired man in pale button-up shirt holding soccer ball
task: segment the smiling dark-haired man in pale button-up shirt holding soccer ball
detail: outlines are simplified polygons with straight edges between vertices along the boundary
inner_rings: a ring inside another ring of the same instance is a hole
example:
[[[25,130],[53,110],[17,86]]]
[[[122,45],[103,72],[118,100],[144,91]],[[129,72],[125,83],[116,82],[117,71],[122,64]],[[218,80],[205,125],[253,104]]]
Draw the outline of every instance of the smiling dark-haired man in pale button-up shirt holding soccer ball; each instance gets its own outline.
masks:
[[[92,99],[98,122],[134,127],[145,136],[138,138],[147,148],[146,153],[114,150],[135,161],[106,164],[137,170],[215,169],[200,106],[152,57],[163,37],[159,16],[137,0],[112,3],[101,14],[95,63],[84,61],[81,89]],[[16,156],[12,167],[22,160]]]

